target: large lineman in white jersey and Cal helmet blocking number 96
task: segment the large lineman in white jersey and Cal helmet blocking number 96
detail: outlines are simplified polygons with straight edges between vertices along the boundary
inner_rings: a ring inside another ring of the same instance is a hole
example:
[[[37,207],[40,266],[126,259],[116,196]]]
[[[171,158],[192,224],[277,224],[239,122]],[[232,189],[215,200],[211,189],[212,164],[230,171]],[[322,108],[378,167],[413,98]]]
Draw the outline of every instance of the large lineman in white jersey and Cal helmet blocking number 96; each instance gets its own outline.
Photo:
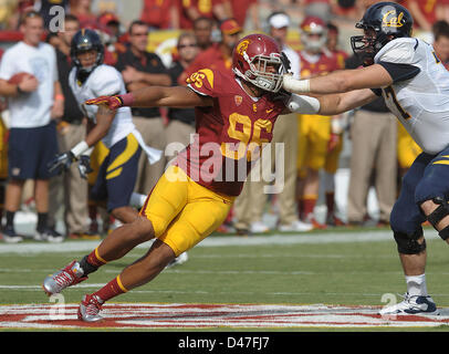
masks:
[[[364,35],[353,37],[352,46],[365,67],[302,81],[284,76],[283,87],[319,95],[320,114],[349,111],[382,95],[422,148],[390,215],[407,293],[380,314],[437,314],[427,293],[421,223],[428,220],[449,243],[449,72],[431,45],[411,37],[413,18],[398,3],[373,4],[356,28]]]

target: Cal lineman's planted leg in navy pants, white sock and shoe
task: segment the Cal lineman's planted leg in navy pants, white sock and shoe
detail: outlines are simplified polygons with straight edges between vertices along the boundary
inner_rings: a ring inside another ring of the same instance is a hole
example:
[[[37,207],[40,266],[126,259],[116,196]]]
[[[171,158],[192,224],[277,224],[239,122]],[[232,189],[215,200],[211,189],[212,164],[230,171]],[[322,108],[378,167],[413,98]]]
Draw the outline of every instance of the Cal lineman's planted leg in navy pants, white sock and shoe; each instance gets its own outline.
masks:
[[[445,230],[445,226],[449,226],[447,201],[438,204],[445,195],[443,190],[447,190],[445,184],[448,176],[445,175],[449,174],[449,167],[434,165],[437,159],[427,154],[419,155],[404,177],[390,225],[406,278],[407,293],[403,302],[384,308],[380,314],[438,313],[434,300],[427,293],[427,252],[421,228],[421,223],[428,219],[436,225],[441,238],[449,236],[449,228]],[[447,211],[442,211],[439,206],[446,206]]]

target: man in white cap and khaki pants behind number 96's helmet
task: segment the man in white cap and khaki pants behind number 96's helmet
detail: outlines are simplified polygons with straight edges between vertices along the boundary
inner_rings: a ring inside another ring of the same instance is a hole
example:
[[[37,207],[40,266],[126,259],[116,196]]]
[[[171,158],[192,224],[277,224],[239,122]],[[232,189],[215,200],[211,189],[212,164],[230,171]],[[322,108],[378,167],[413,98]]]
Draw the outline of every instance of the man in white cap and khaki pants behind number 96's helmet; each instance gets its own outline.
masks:
[[[268,18],[270,35],[276,40],[282,51],[290,60],[291,72],[293,76],[300,77],[300,55],[290,48],[286,41],[286,33],[290,27],[290,18],[285,12],[273,12]],[[275,160],[283,158],[284,167],[284,187],[278,195],[279,220],[278,228],[281,231],[309,231],[312,226],[301,222],[296,214],[296,158],[297,158],[297,118],[295,113],[281,115],[276,121],[276,128],[273,133],[273,139],[270,145],[271,158],[262,159],[255,169],[272,170]],[[275,143],[283,143],[283,156],[276,156]],[[267,164],[267,163],[271,163]],[[251,176],[251,175],[250,175]],[[262,174],[260,174],[262,176]],[[251,177],[250,177],[251,178]],[[234,227],[243,233],[249,230],[251,233],[269,231],[269,227],[263,222],[263,212],[265,209],[268,195],[263,191],[267,183],[259,180],[247,180],[242,194],[236,199],[234,204]]]

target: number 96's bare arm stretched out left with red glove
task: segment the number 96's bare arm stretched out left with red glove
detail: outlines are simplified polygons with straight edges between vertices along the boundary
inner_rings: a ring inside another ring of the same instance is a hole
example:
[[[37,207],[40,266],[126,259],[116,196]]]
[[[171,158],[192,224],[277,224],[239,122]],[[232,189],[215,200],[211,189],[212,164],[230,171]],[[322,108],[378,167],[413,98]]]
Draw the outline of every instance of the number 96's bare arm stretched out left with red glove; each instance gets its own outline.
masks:
[[[106,105],[109,110],[132,107],[196,107],[211,106],[213,101],[184,86],[148,86],[124,95],[101,96],[85,104]]]

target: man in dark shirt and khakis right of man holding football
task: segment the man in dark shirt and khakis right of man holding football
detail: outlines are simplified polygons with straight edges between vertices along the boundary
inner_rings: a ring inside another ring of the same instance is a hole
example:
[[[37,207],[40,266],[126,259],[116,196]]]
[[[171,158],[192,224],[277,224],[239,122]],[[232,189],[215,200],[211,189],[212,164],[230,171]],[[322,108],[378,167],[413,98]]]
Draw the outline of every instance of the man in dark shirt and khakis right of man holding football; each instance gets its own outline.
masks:
[[[85,139],[86,122],[76,98],[69,85],[69,74],[72,70],[71,42],[80,30],[80,21],[73,14],[66,14],[64,31],[58,32],[60,46],[56,49],[58,72],[64,94],[64,114],[58,124],[58,143],[60,152],[70,150],[79,142]],[[61,188],[62,187],[62,188]],[[87,181],[80,176],[76,166],[71,166],[61,177],[50,181],[49,225],[54,226],[54,215],[61,208],[58,192],[62,189],[64,206],[64,225],[69,239],[98,239],[97,235],[87,232]]]

